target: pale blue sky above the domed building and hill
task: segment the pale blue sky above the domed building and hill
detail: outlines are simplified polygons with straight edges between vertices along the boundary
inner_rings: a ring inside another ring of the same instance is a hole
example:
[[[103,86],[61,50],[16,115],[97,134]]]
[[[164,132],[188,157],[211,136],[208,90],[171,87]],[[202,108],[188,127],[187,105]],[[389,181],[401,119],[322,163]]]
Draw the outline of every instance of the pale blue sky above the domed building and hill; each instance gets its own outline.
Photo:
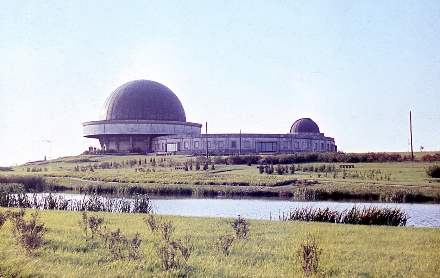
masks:
[[[440,150],[439,1],[236,2],[1,1],[0,165],[99,146],[82,122],[135,79],[210,133],[312,118],[339,150],[405,151],[411,110]]]

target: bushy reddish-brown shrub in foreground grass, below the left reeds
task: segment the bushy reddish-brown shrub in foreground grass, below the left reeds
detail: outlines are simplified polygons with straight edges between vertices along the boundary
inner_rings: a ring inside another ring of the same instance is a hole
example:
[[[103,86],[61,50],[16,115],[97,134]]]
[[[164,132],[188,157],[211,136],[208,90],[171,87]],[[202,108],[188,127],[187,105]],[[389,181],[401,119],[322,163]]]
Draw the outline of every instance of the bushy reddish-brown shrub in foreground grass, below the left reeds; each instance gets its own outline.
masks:
[[[25,210],[9,212],[8,218],[18,246],[29,256],[33,250],[43,245],[43,235],[47,229],[44,228],[44,223],[39,221],[37,210],[31,214],[29,221],[23,219],[25,213]]]

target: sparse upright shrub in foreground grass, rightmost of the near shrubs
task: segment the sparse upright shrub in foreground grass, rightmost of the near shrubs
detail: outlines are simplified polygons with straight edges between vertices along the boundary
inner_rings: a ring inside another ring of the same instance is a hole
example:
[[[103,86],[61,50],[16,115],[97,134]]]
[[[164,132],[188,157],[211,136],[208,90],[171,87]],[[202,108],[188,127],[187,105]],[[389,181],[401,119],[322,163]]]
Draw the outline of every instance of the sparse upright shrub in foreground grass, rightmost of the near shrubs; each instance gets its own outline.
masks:
[[[297,257],[305,275],[310,276],[318,272],[321,253],[322,249],[317,247],[315,235],[308,235],[306,243],[301,244],[297,250]]]

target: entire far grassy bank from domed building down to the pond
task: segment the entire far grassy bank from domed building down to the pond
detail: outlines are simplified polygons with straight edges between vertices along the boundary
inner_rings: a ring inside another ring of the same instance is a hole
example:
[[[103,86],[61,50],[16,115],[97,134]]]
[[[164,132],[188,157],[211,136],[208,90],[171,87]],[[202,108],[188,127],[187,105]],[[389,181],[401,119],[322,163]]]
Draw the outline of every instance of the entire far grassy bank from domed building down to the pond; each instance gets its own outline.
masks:
[[[417,156],[420,157],[425,153],[417,153]],[[150,163],[150,159],[153,158],[157,161],[155,166]],[[295,164],[297,170],[294,174],[278,175],[275,171],[267,175],[259,173],[257,164],[251,166],[215,164],[214,170],[209,166],[207,171],[196,171],[196,157],[172,156],[165,159],[161,161],[162,157],[81,155],[42,161],[35,165],[16,166],[13,172],[0,172],[0,175],[78,178],[93,182],[73,179],[56,179],[56,182],[48,179],[48,181],[60,185],[58,190],[68,188],[98,193],[282,195],[318,199],[346,197],[398,202],[440,202],[440,179],[431,178],[425,172],[433,163],[410,161],[355,163],[356,168],[352,169],[341,169],[339,164],[332,163],[302,163]],[[139,160],[142,165],[139,165]],[[188,160],[193,160],[193,170],[175,169],[176,166],[183,166]],[[123,161],[125,163],[122,168]],[[130,161],[136,165],[130,166]],[[109,164],[116,162],[120,165],[119,168],[103,169],[99,167],[103,162]],[[134,169],[138,167],[143,168],[144,171]],[[33,168],[41,168],[42,171],[33,172]],[[79,171],[74,171],[75,168]],[[81,171],[81,168],[84,171]],[[90,170],[91,168],[93,171]],[[308,168],[330,170],[304,171]],[[304,180],[318,181],[319,184],[304,183]]]

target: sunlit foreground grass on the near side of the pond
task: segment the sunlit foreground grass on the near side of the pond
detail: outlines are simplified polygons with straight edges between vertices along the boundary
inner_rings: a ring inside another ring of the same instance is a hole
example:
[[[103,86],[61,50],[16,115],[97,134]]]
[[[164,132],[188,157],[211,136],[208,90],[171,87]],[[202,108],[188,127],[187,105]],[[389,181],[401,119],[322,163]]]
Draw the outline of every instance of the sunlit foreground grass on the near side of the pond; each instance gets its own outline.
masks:
[[[121,228],[128,238],[139,233],[139,258],[115,259],[99,238],[86,239],[77,224],[79,212],[41,211],[49,231],[45,245],[30,257],[17,247],[10,222],[1,228],[0,277],[302,277],[296,251],[308,234],[316,236],[322,249],[317,277],[438,277],[440,273],[438,228],[249,220],[248,237],[235,239],[225,256],[215,242],[219,235],[234,235],[233,219],[162,216],[176,228],[172,239],[191,235],[194,244],[182,271],[166,272],[156,252],[163,240],[143,222],[145,214],[90,215],[104,217],[104,225]]]

